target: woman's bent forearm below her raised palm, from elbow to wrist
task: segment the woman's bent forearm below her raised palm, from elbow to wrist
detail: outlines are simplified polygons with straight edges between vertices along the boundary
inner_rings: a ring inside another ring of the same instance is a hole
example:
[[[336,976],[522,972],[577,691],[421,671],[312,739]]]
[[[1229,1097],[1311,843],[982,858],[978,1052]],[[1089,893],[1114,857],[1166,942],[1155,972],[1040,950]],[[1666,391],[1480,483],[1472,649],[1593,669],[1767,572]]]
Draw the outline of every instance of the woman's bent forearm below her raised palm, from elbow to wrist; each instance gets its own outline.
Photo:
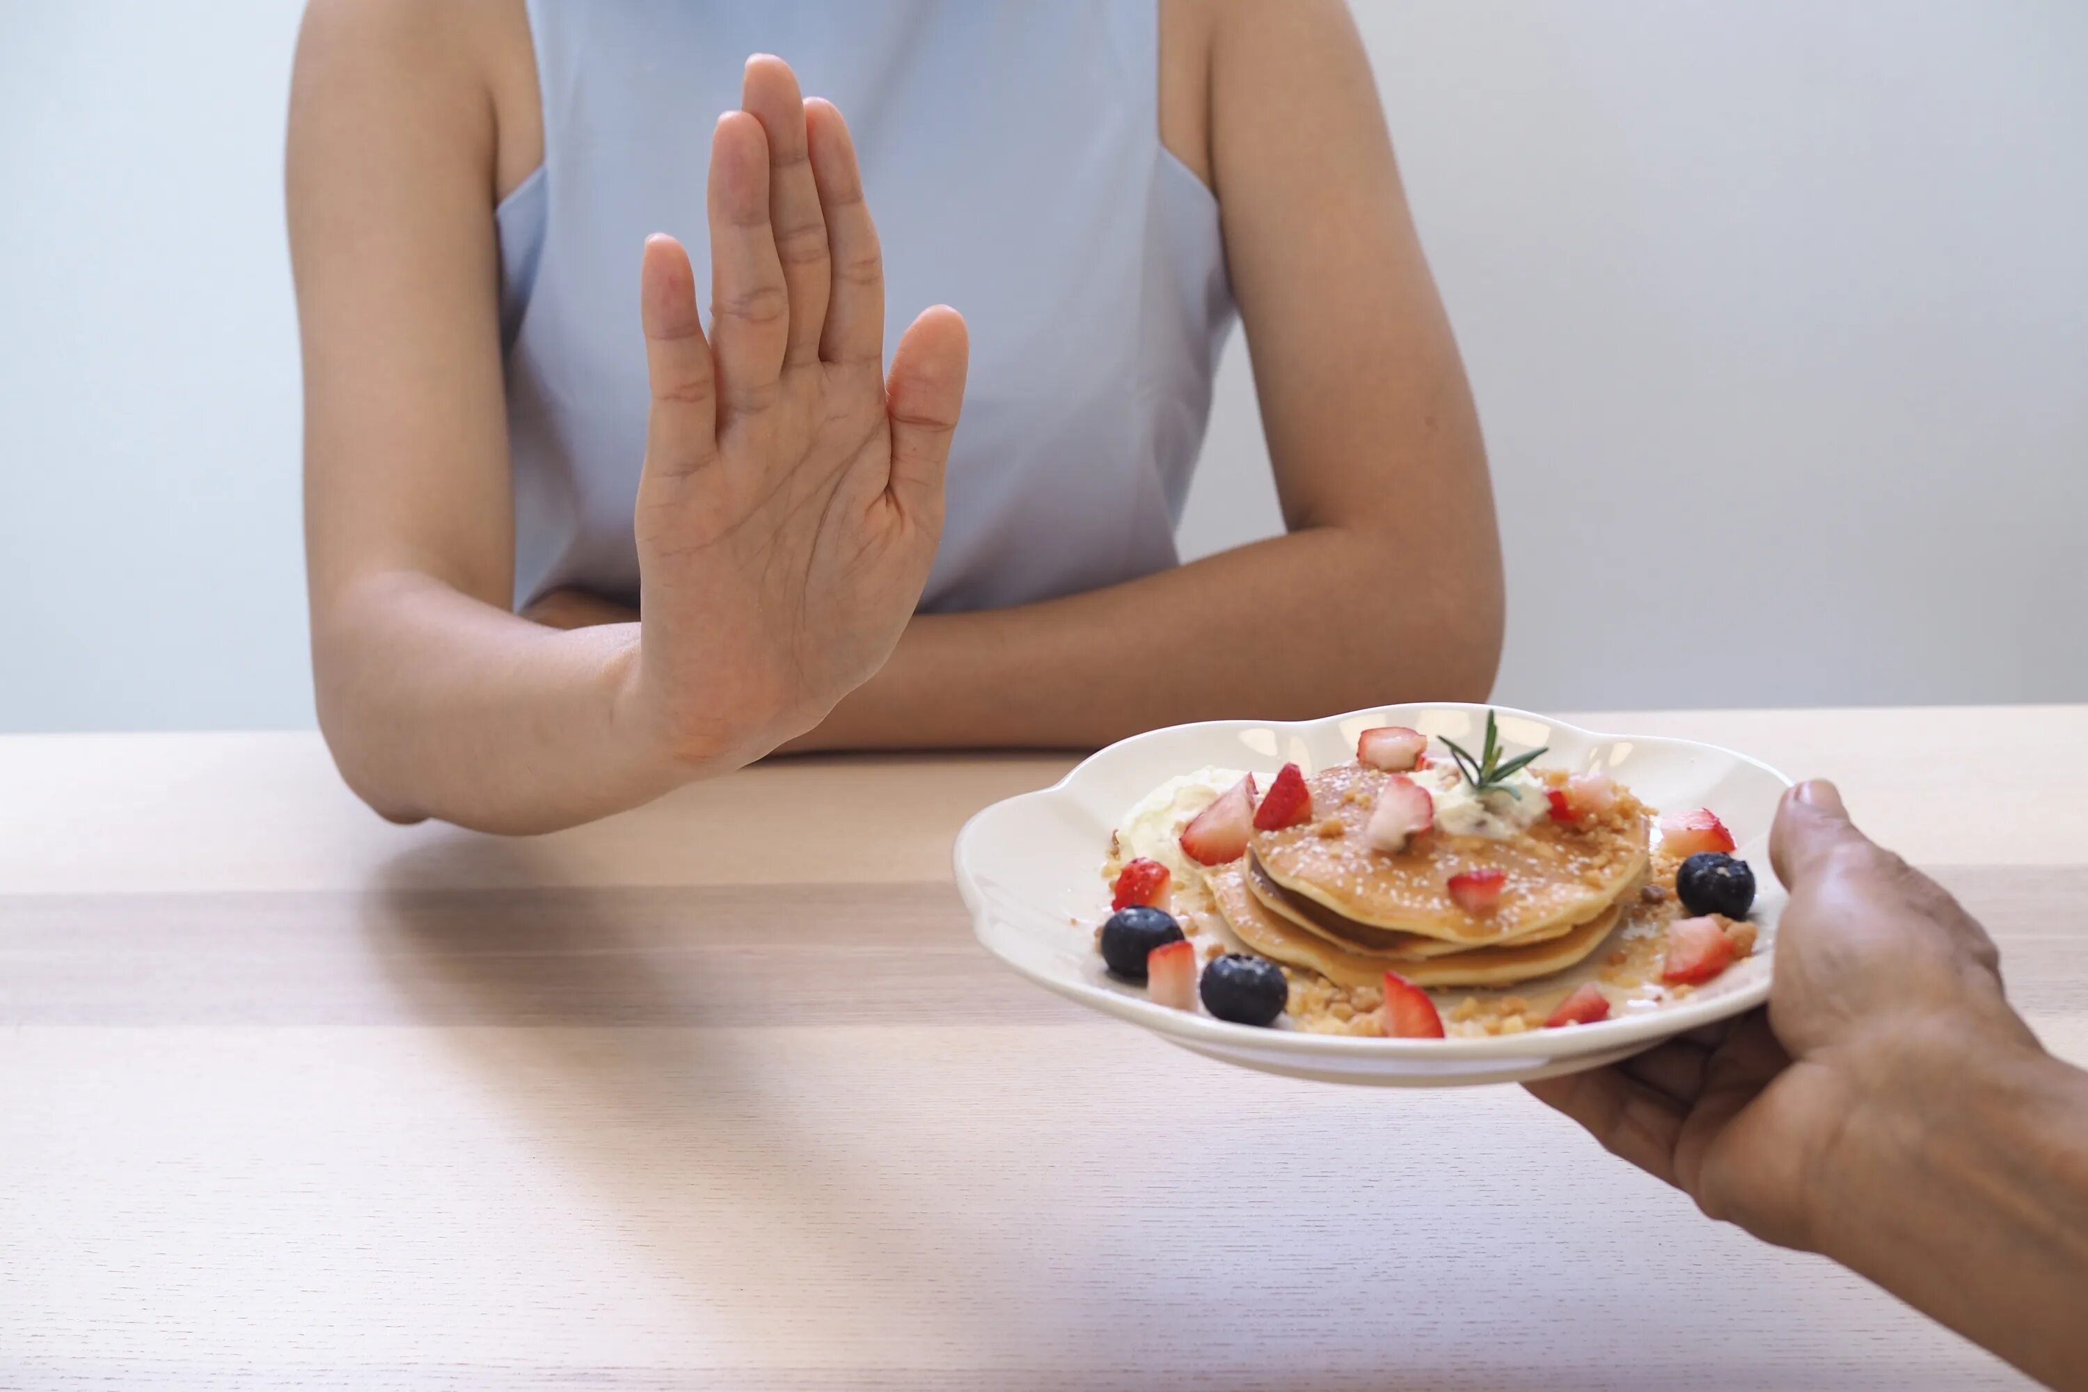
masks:
[[[349,785],[393,820],[572,826],[699,772],[628,701],[637,634],[562,632],[428,576],[365,576],[313,618],[319,724]]]

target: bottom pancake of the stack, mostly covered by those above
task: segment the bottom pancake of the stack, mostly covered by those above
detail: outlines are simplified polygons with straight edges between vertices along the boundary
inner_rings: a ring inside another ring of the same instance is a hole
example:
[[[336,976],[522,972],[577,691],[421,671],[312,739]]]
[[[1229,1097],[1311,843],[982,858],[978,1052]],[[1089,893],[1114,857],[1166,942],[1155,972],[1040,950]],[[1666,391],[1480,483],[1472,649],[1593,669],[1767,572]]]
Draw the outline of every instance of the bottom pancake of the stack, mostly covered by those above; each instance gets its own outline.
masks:
[[[1288,918],[1265,910],[1261,899],[1247,889],[1244,860],[1211,870],[1205,883],[1234,937],[1272,962],[1315,970],[1336,985],[1384,985],[1386,966],[1422,989],[1518,985],[1535,977],[1566,970],[1587,958],[1624,916],[1622,906],[1612,904],[1595,918],[1551,941],[1526,947],[1485,947],[1443,958],[1389,964],[1380,956],[1336,947],[1328,939],[1307,933]]]

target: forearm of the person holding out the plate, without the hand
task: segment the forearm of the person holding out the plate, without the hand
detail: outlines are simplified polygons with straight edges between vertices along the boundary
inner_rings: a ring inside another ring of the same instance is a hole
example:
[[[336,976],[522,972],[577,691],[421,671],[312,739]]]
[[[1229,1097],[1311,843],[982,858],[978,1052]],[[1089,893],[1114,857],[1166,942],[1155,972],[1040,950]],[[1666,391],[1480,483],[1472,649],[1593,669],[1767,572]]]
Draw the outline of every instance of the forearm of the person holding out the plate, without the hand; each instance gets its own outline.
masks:
[[[1821,1250],[2055,1388],[2088,1388],[2088,1073],[1906,1050],[1850,1117]]]

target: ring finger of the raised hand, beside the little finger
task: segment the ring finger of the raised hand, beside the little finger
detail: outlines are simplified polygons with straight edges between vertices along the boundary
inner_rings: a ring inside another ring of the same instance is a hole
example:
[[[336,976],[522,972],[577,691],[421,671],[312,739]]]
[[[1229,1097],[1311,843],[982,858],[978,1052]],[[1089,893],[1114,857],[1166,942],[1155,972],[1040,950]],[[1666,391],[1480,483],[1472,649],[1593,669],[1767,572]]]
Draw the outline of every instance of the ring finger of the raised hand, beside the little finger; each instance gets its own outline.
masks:
[[[766,409],[789,338],[789,294],[768,225],[768,136],[727,111],[710,140],[710,334],[722,415]]]

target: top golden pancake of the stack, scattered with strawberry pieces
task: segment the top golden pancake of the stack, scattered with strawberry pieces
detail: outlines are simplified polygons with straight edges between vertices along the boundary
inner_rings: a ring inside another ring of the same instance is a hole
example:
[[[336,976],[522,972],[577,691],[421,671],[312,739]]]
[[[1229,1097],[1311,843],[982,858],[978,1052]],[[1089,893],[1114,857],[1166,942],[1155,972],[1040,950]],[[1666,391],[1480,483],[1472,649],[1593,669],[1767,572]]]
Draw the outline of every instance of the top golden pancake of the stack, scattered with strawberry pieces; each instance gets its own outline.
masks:
[[[1393,774],[1338,764],[1305,781],[1313,818],[1257,831],[1249,843],[1267,877],[1340,918],[1464,947],[1537,941],[1585,925],[1645,872],[1650,822],[1620,793],[1614,812],[1589,822],[1549,816],[1508,839],[1432,831],[1397,856],[1370,849],[1363,824]],[[1531,791],[1524,793],[1526,797]],[[1322,835],[1334,818],[1340,835]],[[1491,914],[1468,914],[1449,897],[1449,877],[1501,870],[1508,881]]]

